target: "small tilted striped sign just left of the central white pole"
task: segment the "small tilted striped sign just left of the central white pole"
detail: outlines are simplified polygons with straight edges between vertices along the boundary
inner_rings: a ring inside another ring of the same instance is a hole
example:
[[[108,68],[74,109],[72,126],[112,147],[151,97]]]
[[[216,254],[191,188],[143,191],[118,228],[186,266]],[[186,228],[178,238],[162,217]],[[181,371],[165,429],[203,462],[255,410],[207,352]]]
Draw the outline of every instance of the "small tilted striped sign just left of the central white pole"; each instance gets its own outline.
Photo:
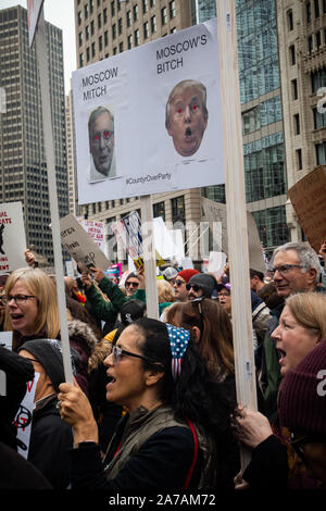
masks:
[[[143,267],[143,247],[141,235],[141,221],[137,211],[111,224],[112,230],[120,239],[137,269]],[[164,264],[164,260],[156,252],[156,265]]]

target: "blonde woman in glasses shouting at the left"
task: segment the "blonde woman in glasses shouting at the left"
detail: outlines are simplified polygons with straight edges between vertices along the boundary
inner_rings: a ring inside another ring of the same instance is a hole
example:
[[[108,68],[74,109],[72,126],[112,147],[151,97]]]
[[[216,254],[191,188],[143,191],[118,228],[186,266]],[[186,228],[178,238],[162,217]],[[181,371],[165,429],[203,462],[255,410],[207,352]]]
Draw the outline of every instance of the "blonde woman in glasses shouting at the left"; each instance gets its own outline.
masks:
[[[13,350],[29,339],[60,338],[57,288],[40,269],[23,267],[10,274],[4,287],[4,329],[13,332]],[[89,325],[68,322],[70,344],[80,354],[77,381],[88,391],[88,360],[98,342]]]

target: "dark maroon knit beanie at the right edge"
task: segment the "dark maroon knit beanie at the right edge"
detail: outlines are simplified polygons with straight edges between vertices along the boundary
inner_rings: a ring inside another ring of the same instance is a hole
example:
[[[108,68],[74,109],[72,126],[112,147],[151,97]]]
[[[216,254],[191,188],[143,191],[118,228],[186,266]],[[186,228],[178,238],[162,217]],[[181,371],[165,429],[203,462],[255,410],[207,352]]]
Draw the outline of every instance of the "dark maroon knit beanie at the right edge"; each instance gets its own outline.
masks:
[[[286,372],[278,404],[281,426],[326,438],[326,340]]]

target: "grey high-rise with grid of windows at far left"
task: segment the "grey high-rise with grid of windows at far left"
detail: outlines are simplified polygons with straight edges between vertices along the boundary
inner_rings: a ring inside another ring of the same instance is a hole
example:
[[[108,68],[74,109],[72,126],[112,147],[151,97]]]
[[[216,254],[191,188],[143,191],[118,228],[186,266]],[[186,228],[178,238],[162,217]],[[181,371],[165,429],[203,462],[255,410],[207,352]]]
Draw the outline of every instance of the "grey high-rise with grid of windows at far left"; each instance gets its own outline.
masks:
[[[58,203],[67,213],[62,30],[46,23],[55,150]],[[28,47],[27,11],[0,11],[0,201],[22,201],[27,246],[53,263],[40,83],[35,46]]]

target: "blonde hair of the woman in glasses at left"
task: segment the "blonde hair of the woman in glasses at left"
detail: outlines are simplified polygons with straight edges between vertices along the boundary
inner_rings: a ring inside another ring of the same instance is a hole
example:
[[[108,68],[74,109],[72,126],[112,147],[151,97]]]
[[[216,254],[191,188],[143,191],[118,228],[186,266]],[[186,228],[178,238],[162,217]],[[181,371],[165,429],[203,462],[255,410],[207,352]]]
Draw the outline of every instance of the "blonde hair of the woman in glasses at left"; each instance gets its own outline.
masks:
[[[8,277],[4,292],[10,295],[17,281],[24,282],[30,295],[37,299],[38,314],[35,321],[35,334],[45,332],[47,337],[55,339],[60,332],[60,317],[57,298],[57,288],[53,281],[41,270],[33,267],[22,267],[15,270]],[[14,347],[20,337],[20,333],[14,331],[8,310],[5,311],[4,329],[13,331]]]

